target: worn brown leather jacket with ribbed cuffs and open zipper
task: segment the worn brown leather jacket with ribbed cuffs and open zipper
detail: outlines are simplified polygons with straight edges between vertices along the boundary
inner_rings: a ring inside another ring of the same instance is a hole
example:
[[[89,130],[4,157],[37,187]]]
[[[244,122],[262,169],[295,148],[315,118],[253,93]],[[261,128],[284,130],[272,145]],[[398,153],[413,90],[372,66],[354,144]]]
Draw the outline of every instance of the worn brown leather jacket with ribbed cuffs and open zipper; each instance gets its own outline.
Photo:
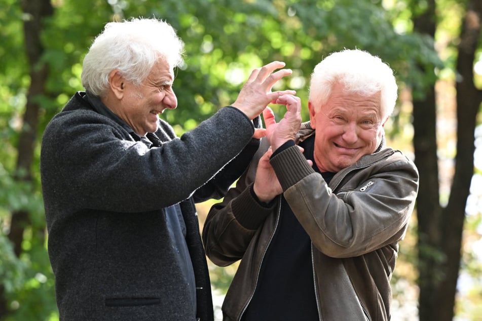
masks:
[[[299,140],[314,131],[302,125]],[[240,320],[277,227],[280,202],[260,206],[252,197],[263,144],[250,168],[206,219],[207,256],[227,266],[240,259],[223,303],[225,320]],[[390,278],[418,192],[418,171],[400,151],[384,146],[337,173],[327,185],[298,147],[271,159],[284,197],[312,241],[319,319],[389,320]]]

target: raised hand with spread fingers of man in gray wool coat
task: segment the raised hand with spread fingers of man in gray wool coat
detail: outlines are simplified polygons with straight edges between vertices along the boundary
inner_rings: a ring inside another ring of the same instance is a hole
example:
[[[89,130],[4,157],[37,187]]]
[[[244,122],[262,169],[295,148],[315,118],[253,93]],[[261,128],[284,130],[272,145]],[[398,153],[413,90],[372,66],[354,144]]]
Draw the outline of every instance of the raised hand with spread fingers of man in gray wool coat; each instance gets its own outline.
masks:
[[[247,82],[239,92],[238,98],[232,104],[253,119],[263,112],[266,106],[275,102],[284,94],[294,95],[294,90],[271,92],[271,88],[284,76],[291,74],[291,69],[274,70],[285,66],[284,62],[273,61],[251,72]]]

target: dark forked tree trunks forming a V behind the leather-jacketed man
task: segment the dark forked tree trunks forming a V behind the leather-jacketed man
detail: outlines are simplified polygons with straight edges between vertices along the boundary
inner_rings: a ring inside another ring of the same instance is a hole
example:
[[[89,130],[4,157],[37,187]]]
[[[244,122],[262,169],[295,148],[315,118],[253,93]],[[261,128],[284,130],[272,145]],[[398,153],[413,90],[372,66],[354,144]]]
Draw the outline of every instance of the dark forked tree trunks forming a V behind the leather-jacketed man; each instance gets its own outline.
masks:
[[[435,91],[414,100],[415,163],[420,172],[417,198],[420,320],[451,321],[460,269],[465,205],[473,175],[474,130],[480,91],[473,84],[473,62],[480,35],[482,3],[470,0],[460,35],[457,72],[457,156],[449,202],[439,203]],[[416,31],[435,34],[435,3],[414,20]],[[460,126],[462,125],[462,126]]]

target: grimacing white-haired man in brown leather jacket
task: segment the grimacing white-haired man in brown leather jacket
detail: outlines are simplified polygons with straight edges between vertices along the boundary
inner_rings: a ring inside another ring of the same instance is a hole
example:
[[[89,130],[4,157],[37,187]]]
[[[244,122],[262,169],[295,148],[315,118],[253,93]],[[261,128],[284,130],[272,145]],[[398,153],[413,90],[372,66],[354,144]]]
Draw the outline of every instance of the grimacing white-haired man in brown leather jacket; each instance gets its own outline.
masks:
[[[418,192],[410,159],[385,145],[393,71],[361,50],[332,53],[311,77],[310,122],[296,105],[203,229],[208,257],[241,260],[224,320],[389,320],[390,278]],[[299,107],[298,107],[299,108]]]

